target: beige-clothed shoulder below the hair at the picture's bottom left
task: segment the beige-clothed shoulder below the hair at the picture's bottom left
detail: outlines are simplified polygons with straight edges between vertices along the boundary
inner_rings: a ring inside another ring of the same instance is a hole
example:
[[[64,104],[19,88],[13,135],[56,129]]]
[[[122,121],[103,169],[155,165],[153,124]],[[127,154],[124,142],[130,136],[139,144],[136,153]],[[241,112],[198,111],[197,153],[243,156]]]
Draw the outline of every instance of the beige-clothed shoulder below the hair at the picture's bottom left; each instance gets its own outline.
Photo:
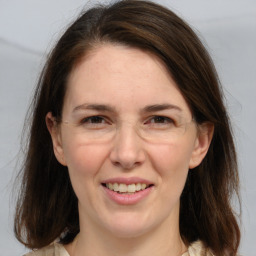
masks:
[[[69,256],[69,254],[63,245],[53,243],[41,249],[31,251],[24,256]]]

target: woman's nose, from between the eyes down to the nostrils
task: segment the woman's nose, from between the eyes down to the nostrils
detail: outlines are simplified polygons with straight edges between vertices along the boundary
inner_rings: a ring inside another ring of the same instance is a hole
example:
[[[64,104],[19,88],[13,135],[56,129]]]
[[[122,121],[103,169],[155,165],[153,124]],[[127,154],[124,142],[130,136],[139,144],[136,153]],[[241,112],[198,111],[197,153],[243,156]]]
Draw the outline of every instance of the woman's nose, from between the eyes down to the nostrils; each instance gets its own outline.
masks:
[[[142,141],[133,127],[122,127],[117,131],[110,153],[110,160],[123,170],[131,170],[145,161]]]

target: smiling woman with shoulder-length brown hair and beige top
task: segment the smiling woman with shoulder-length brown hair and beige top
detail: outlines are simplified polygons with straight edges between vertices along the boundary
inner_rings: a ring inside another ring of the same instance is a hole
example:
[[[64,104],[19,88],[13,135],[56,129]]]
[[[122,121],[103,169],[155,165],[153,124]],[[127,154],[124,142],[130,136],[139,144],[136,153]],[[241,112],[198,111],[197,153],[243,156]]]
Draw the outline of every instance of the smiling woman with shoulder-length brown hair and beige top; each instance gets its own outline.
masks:
[[[28,255],[236,255],[234,143],[212,61],[166,8],[83,13],[41,74],[15,233]]]

